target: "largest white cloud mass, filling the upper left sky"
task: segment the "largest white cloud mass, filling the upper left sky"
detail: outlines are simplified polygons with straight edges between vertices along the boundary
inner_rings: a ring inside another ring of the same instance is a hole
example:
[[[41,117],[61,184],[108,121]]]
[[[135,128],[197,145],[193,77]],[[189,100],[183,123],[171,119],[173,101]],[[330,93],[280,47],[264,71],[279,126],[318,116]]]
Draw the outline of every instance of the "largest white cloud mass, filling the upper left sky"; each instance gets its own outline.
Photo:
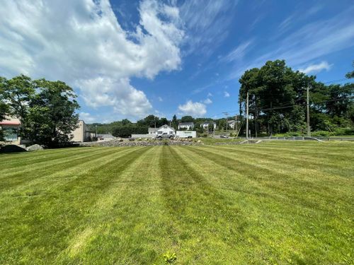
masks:
[[[176,6],[143,0],[139,16],[129,32],[108,0],[4,1],[0,75],[59,79],[74,86],[89,106],[140,117],[152,105],[130,78],[179,69],[184,33]]]

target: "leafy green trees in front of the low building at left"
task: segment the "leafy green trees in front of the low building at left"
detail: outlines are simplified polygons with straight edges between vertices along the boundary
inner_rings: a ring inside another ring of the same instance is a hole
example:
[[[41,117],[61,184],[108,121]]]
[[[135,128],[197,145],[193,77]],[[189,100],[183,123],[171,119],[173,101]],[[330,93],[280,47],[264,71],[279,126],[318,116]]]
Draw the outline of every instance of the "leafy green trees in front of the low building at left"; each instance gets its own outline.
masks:
[[[18,118],[19,134],[28,143],[67,143],[79,120],[75,99],[74,90],[62,81],[32,80],[24,75],[0,77],[0,120]]]

